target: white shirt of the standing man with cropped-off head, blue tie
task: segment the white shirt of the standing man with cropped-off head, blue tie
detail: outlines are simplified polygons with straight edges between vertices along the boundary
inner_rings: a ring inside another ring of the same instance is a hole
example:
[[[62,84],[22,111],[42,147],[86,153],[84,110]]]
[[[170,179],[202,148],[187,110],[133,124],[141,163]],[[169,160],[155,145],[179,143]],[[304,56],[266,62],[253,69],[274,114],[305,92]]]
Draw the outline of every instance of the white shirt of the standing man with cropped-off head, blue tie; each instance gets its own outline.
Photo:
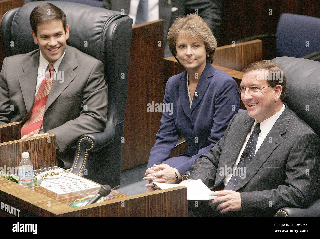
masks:
[[[134,26],[137,18],[138,5],[140,0],[131,0],[129,17],[133,19],[132,26]],[[155,21],[159,19],[159,0],[149,0],[148,1],[148,22]]]

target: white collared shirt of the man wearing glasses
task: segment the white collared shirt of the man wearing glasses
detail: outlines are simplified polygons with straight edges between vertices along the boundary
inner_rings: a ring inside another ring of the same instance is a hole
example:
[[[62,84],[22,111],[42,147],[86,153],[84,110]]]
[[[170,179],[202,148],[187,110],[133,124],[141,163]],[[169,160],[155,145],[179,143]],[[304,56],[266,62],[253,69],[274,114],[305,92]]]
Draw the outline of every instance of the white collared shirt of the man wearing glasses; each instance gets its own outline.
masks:
[[[282,114],[282,112],[284,112],[284,109],[285,109],[285,106],[283,104],[282,108],[276,112],[274,115],[272,115],[271,117],[269,117],[268,119],[265,119],[263,120],[261,123],[260,123],[260,129],[261,129],[261,132],[259,133],[259,137],[258,137],[258,142],[257,142],[257,146],[256,146],[256,150],[254,152],[254,154],[257,153],[257,151],[259,150],[261,144],[263,143],[264,139],[267,137],[268,133],[270,132],[271,128],[274,126],[274,124],[276,123],[277,119],[280,117],[280,115]],[[257,120],[255,119],[254,120],[254,123],[251,127],[251,130],[250,132],[248,133],[247,137],[245,138],[245,141],[244,141],[244,144],[242,146],[242,149],[240,150],[240,153],[238,155],[238,158],[235,162],[235,164],[233,165],[233,168],[232,168],[232,173],[235,173],[236,171],[236,167],[240,161],[240,158],[241,158],[241,155],[244,151],[244,148],[245,146],[247,145],[249,139],[250,139],[250,135],[252,134],[253,132],[253,128],[254,126],[257,124]],[[254,160],[254,158],[253,158]],[[232,175],[227,175],[227,177],[225,177],[225,179],[223,180],[223,183],[224,185],[227,185],[227,183],[229,182],[229,180],[231,179]]]

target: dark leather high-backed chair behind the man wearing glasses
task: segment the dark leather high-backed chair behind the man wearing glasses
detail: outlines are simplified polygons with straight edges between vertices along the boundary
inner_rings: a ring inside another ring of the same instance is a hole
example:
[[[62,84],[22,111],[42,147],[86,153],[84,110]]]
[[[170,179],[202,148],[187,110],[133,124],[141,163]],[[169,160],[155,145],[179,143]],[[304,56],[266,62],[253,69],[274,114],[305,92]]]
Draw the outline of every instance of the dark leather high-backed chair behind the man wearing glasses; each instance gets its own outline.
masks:
[[[304,58],[277,57],[272,59],[287,78],[284,102],[320,137],[320,62]],[[308,208],[280,208],[277,217],[320,216],[320,171],[314,202]]]

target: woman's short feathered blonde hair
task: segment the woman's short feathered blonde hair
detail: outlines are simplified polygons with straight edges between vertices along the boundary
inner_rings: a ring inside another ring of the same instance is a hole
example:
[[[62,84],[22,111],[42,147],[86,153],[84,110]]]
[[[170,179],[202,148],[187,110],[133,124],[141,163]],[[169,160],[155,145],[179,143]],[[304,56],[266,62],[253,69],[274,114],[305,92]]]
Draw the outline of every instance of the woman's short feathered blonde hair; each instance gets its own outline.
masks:
[[[213,63],[217,40],[201,17],[194,13],[189,13],[174,20],[167,36],[169,49],[174,57],[176,57],[174,51],[176,51],[176,41],[180,33],[188,39],[201,39],[204,41],[205,50],[209,53],[207,60],[210,64]]]

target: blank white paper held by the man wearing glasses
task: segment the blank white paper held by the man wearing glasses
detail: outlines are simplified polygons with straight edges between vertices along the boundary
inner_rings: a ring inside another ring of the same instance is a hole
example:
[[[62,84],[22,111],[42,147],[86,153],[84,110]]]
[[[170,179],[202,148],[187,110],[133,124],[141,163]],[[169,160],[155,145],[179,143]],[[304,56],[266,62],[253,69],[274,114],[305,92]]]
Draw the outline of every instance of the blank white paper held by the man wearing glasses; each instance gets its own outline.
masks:
[[[169,183],[161,183],[161,182],[152,182],[156,184],[161,189],[171,189],[180,186],[185,186],[187,188],[187,198],[192,201],[200,201],[200,200],[213,200],[216,198],[210,197],[209,194],[212,193],[210,189],[201,181],[201,179],[189,181],[181,184],[169,184]]]

